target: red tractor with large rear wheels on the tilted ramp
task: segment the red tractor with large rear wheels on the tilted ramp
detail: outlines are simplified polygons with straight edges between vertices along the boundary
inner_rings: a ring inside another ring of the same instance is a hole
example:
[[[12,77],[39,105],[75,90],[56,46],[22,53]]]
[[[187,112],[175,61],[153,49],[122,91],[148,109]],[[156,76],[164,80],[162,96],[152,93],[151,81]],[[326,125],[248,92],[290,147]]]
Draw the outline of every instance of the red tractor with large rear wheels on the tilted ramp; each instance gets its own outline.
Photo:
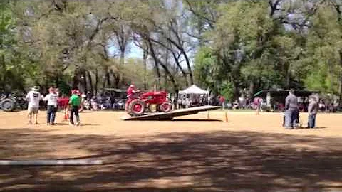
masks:
[[[167,92],[135,93],[138,97],[128,98],[125,110],[131,116],[140,116],[145,112],[170,112],[172,105],[167,100]]]

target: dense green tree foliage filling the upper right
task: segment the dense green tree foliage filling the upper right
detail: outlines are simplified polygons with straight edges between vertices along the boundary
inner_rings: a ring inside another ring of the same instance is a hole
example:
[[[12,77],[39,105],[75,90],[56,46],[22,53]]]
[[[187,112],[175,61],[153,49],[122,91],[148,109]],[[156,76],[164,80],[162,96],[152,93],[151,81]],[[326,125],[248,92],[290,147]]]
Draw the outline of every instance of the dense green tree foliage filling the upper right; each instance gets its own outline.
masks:
[[[300,19],[286,21],[281,15],[272,18],[267,3],[229,1],[219,6],[214,28],[205,33],[207,43],[197,51],[197,80],[207,87],[229,83],[234,87],[235,98],[239,89],[246,87],[252,92],[297,88],[341,94],[341,16],[335,7],[317,2],[318,11],[312,14],[299,2],[283,4],[284,10],[297,9],[307,16],[307,23],[301,23],[299,31],[296,22]],[[296,25],[298,31],[289,30],[289,25]]]

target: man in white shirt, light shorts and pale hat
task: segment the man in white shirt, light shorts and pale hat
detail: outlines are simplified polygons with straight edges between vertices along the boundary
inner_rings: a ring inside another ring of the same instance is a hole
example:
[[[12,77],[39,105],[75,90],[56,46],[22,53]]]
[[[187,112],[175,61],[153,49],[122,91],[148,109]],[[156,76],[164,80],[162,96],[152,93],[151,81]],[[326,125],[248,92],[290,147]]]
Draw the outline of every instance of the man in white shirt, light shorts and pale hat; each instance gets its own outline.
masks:
[[[41,100],[41,94],[38,90],[38,87],[34,86],[26,95],[26,100],[28,101],[28,124],[32,124],[32,114],[34,114],[35,124],[38,124],[39,100]]]

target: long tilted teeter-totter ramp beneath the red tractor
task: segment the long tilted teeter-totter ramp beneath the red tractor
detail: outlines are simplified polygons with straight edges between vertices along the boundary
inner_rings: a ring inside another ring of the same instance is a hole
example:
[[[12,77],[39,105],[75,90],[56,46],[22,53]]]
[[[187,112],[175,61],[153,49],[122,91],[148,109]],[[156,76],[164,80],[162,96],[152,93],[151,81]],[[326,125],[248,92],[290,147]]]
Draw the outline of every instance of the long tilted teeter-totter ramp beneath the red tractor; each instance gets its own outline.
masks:
[[[156,113],[150,113],[150,114],[144,114],[141,116],[135,116],[135,117],[120,117],[120,119],[124,121],[148,121],[148,120],[172,120],[173,117],[178,116],[184,116],[184,115],[190,115],[190,114],[197,114],[198,112],[206,112],[211,110],[217,110],[219,109],[219,106],[201,106],[201,107],[191,107],[187,109],[182,110],[173,110],[170,112],[156,112]]]

